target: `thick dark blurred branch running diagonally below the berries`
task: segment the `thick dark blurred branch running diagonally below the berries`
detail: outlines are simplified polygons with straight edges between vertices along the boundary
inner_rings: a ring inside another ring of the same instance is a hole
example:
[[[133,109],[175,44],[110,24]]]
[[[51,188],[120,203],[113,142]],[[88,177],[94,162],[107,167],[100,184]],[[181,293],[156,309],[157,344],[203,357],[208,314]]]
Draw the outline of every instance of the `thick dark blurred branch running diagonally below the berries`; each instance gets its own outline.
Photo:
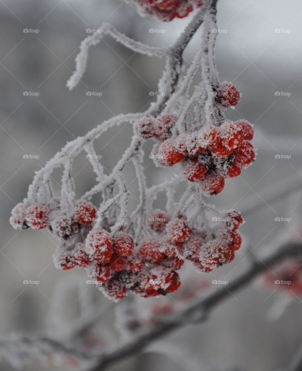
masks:
[[[150,342],[168,335],[170,332],[189,324],[190,322],[203,322],[207,319],[210,312],[227,298],[231,298],[230,292],[234,293],[243,289],[248,283],[256,278],[260,273],[276,263],[281,262],[285,258],[295,258],[302,260],[302,244],[289,243],[280,247],[272,255],[266,257],[259,263],[254,263],[246,272],[239,275],[232,283],[221,289],[215,290],[202,300],[202,302],[194,303],[184,311],[178,313],[174,319],[156,325],[155,328],[139,336],[128,344],[122,345],[120,348],[99,357],[95,365],[89,368],[89,371],[103,371],[105,368],[116,364],[128,357],[134,356],[142,351]],[[293,369],[297,371],[298,369]],[[301,370],[301,369],[299,369]]]

